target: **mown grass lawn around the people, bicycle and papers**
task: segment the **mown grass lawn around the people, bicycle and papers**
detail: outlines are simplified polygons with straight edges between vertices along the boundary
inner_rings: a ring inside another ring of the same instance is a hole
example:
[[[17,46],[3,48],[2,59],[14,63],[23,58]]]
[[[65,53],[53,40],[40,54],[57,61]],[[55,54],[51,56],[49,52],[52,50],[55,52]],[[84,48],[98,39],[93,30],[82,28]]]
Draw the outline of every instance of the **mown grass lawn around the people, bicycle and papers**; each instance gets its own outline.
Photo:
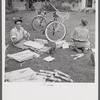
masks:
[[[65,14],[65,12],[63,12]],[[14,27],[12,17],[22,16],[23,17],[23,27],[30,33],[31,40],[34,38],[46,39],[42,32],[34,31],[31,27],[31,21],[35,17],[33,11],[21,11],[13,14],[6,15],[6,30],[5,30],[5,40],[6,44],[11,43],[10,41],[10,30]],[[52,20],[52,13],[46,15],[47,21]],[[73,29],[79,25],[80,19],[86,18],[88,20],[87,28],[90,31],[90,43],[91,48],[95,48],[95,14],[85,14],[79,12],[70,12],[70,18],[68,21],[64,22],[67,28],[67,35],[65,37],[66,41],[71,41],[70,34]],[[6,54],[15,53],[21,51],[14,47],[12,44],[8,47]],[[53,62],[45,62],[43,58],[48,56],[48,54],[41,55],[41,58],[31,59],[26,61],[22,66],[14,60],[7,60],[5,62],[6,72],[17,70],[21,68],[31,67],[34,71],[39,71],[40,69],[54,71],[58,69],[64,73],[71,76],[74,82],[94,82],[95,68],[92,65],[90,54],[91,51],[85,53],[80,59],[74,60],[71,57],[72,54],[76,54],[75,51],[70,49],[56,49],[56,52],[52,55],[55,57]]]

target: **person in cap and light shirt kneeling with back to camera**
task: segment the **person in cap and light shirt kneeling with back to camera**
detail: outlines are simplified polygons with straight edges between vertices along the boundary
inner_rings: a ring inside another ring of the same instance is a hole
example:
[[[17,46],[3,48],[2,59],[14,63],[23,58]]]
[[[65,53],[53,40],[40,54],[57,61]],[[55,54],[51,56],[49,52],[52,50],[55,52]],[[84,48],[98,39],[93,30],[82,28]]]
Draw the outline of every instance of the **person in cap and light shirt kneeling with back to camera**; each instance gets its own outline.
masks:
[[[85,52],[90,49],[89,31],[85,27],[88,24],[86,19],[81,19],[81,24],[74,29],[71,35],[72,44],[70,48],[76,50],[78,53]]]

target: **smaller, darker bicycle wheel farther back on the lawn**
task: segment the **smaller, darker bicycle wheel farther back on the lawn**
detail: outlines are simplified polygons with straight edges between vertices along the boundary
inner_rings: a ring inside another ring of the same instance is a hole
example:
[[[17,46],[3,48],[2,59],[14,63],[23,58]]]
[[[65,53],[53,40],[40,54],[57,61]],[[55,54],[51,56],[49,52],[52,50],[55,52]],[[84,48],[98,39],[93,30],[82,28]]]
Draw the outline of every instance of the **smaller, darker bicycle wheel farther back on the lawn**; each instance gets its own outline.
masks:
[[[35,29],[36,31],[42,31],[46,27],[46,19],[42,16],[37,16],[32,20],[32,28]]]

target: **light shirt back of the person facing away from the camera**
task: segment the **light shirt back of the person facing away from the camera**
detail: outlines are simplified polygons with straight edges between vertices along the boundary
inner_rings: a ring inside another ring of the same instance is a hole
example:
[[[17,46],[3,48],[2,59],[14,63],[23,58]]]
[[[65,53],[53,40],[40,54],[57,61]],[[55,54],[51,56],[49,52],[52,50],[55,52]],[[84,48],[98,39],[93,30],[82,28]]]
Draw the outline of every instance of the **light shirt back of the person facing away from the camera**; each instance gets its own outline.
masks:
[[[88,41],[89,31],[85,27],[76,27],[71,38],[78,41]]]

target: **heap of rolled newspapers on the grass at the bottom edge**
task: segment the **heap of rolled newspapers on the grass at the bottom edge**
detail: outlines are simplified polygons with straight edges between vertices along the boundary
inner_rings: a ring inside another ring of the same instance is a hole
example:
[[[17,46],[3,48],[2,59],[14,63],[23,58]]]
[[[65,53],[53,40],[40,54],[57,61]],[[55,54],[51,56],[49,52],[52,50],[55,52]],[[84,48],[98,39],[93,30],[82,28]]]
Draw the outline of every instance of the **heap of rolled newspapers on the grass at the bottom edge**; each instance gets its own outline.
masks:
[[[73,82],[68,74],[63,73],[57,69],[54,71],[40,70],[40,72],[37,72],[37,74],[44,76],[45,82]]]

